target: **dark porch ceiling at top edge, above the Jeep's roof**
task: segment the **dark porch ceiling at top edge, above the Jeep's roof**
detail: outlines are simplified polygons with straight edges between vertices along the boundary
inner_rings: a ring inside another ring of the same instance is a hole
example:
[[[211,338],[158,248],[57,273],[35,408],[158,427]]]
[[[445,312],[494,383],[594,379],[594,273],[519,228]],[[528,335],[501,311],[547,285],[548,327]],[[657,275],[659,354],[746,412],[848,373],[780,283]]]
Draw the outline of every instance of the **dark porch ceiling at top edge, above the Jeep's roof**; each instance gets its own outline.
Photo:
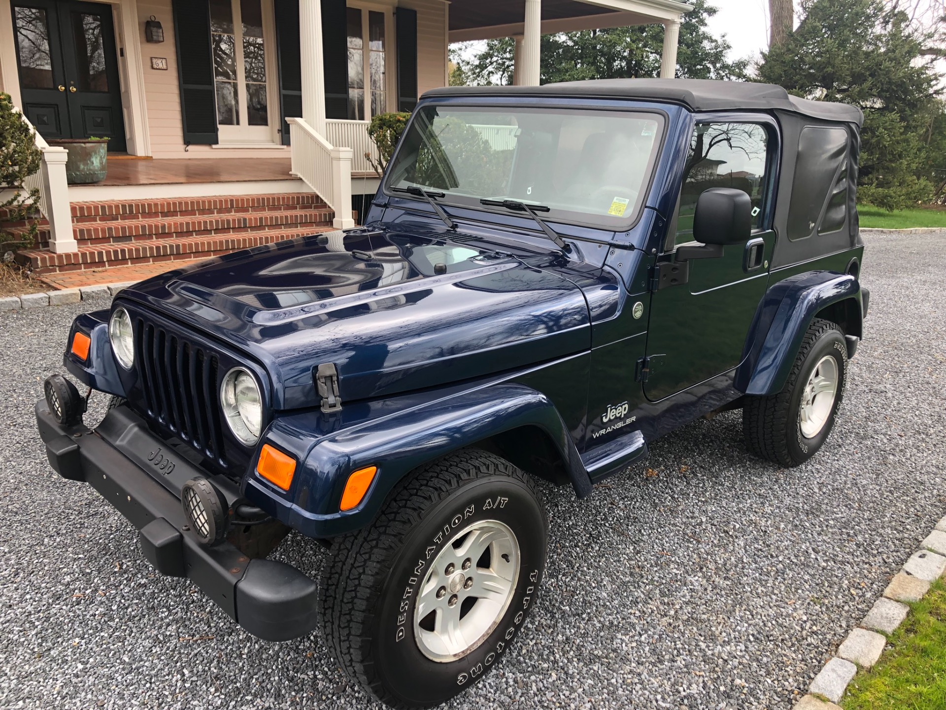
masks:
[[[522,34],[525,7],[525,0],[453,3],[450,42]],[[677,20],[691,9],[676,0],[542,0],[542,33],[650,25]]]

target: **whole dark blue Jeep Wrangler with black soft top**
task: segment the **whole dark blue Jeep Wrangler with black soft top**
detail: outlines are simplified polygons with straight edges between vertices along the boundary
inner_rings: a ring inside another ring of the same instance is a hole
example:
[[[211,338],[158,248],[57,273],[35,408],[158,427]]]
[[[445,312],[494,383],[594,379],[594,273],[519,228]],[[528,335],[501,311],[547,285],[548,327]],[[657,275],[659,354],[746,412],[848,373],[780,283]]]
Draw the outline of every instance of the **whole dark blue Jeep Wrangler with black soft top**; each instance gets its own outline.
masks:
[[[523,633],[548,524],[648,442],[741,408],[824,445],[862,336],[859,110],[777,86],[603,80],[419,102],[363,226],[205,261],[79,316],[36,405],[52,467],[271,641],[317,623],[394,706]],[[317,583],[267,559],[290,530]]]

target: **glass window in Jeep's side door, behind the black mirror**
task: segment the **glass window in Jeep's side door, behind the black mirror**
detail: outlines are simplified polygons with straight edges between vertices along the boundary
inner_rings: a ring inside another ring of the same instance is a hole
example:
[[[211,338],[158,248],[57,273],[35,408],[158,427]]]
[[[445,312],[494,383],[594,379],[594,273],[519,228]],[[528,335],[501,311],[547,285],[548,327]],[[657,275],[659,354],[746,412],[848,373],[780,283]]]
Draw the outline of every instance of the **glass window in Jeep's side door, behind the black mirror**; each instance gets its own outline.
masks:
[[[752,199],[752,228],[759,226],[768,182],[768,133],[757,123],[696,126],[680,193],[677,244],[693,239],[696,201],[710,187],[735,187]]]

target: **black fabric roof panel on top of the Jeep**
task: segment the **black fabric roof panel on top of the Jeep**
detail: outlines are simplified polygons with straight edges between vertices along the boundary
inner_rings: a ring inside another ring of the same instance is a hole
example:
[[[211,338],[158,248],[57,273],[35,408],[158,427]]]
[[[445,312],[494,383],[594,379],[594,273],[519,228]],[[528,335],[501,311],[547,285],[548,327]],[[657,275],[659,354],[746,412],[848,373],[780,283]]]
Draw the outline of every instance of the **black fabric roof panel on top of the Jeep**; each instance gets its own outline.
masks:
[[[864,122],[856,106],[791,96],[775,84],[707,79],[599,79],[543,86],[445,86],[431,97],[587,97],[642,98],[680,103],[692,111],[755,109],[787,111],[828,121]]]

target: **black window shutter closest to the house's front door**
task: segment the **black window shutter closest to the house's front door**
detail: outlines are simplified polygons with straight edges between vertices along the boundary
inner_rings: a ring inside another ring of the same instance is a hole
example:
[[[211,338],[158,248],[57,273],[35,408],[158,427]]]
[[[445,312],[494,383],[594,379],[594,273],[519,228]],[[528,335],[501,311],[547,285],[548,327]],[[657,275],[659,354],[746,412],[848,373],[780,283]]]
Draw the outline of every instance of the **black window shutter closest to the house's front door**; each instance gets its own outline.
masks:
[[[173,9],[184,143],[213,145],[218,139],[210,4],[207,0],[174,0]]]

